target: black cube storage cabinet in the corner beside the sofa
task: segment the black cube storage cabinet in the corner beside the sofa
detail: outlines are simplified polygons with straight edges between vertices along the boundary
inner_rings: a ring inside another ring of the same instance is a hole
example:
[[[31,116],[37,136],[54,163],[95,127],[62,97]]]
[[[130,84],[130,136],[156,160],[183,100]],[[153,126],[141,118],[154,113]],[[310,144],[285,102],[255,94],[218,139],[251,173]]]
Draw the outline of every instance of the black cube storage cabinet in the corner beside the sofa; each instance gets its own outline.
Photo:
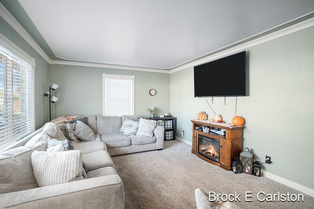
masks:
[[[165,141],[176,139],[176,117],[150,117],[150,119],[156,120],[157,125],[165,128]]]

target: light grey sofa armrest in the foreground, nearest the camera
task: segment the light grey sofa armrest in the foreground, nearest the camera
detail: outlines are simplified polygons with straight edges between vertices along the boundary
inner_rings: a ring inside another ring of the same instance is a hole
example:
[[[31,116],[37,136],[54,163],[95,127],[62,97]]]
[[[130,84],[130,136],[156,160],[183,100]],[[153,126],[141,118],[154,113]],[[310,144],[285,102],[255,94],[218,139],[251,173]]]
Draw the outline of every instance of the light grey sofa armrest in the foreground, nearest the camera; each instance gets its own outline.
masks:
[[[124,186],[118,175],[0,194],[0,208],[124,209]]]

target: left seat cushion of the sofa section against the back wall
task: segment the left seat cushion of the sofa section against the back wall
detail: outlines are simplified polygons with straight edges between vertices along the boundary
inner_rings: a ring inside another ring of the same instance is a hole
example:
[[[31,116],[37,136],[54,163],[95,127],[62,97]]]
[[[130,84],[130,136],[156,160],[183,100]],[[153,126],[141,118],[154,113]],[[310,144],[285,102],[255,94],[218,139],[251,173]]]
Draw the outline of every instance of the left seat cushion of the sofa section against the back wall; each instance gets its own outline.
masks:
[[[131,145],[131,139],[122,134],[105,134],[100,136],[107,148],[124,147]]]

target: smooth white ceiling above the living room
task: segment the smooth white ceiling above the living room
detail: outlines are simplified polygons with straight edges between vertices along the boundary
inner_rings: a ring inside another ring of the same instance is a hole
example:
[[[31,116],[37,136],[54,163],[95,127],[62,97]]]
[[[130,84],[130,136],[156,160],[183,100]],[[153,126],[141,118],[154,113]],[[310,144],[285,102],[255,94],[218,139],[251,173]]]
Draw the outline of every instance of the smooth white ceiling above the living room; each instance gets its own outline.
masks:
[[[55,56],[171,69],[314,11],[314,0],[19,0]]]

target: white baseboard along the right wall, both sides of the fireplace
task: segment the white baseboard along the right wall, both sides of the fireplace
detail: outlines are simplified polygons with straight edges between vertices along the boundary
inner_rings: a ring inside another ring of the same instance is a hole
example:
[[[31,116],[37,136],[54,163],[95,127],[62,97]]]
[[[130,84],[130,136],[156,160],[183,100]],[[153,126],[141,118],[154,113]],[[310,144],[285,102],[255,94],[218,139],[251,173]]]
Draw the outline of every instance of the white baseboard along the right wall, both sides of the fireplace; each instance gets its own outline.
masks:
[[[192,146],[192,142],[184,140],[184,139],[181,139],[180,137],[176,137],[176,140],[184,142],[184,143]],[[281,183],[283,185],[289,186],[291,188],[294,188],[294,189],[296,189],[298,191],[301,191],[301,192],[303,192],[305,194],[308,194],[308,195],[314,197],[314,189],[308,188],[306,186],[299,185],[299,184],[297,184],[295,182],[292,182],[292,181],[290,181],[288,179],[284,179],[284,178],[282,178],[280,176],[277,176],[275,174],[269,173],[269,172],[264,171],[264,170],[262,170],[261,174],[262,174],[262,176],[264,176],[264,177],[266,177],[268,179],[274,180],[274,181],[276,181],[278,183]]]

